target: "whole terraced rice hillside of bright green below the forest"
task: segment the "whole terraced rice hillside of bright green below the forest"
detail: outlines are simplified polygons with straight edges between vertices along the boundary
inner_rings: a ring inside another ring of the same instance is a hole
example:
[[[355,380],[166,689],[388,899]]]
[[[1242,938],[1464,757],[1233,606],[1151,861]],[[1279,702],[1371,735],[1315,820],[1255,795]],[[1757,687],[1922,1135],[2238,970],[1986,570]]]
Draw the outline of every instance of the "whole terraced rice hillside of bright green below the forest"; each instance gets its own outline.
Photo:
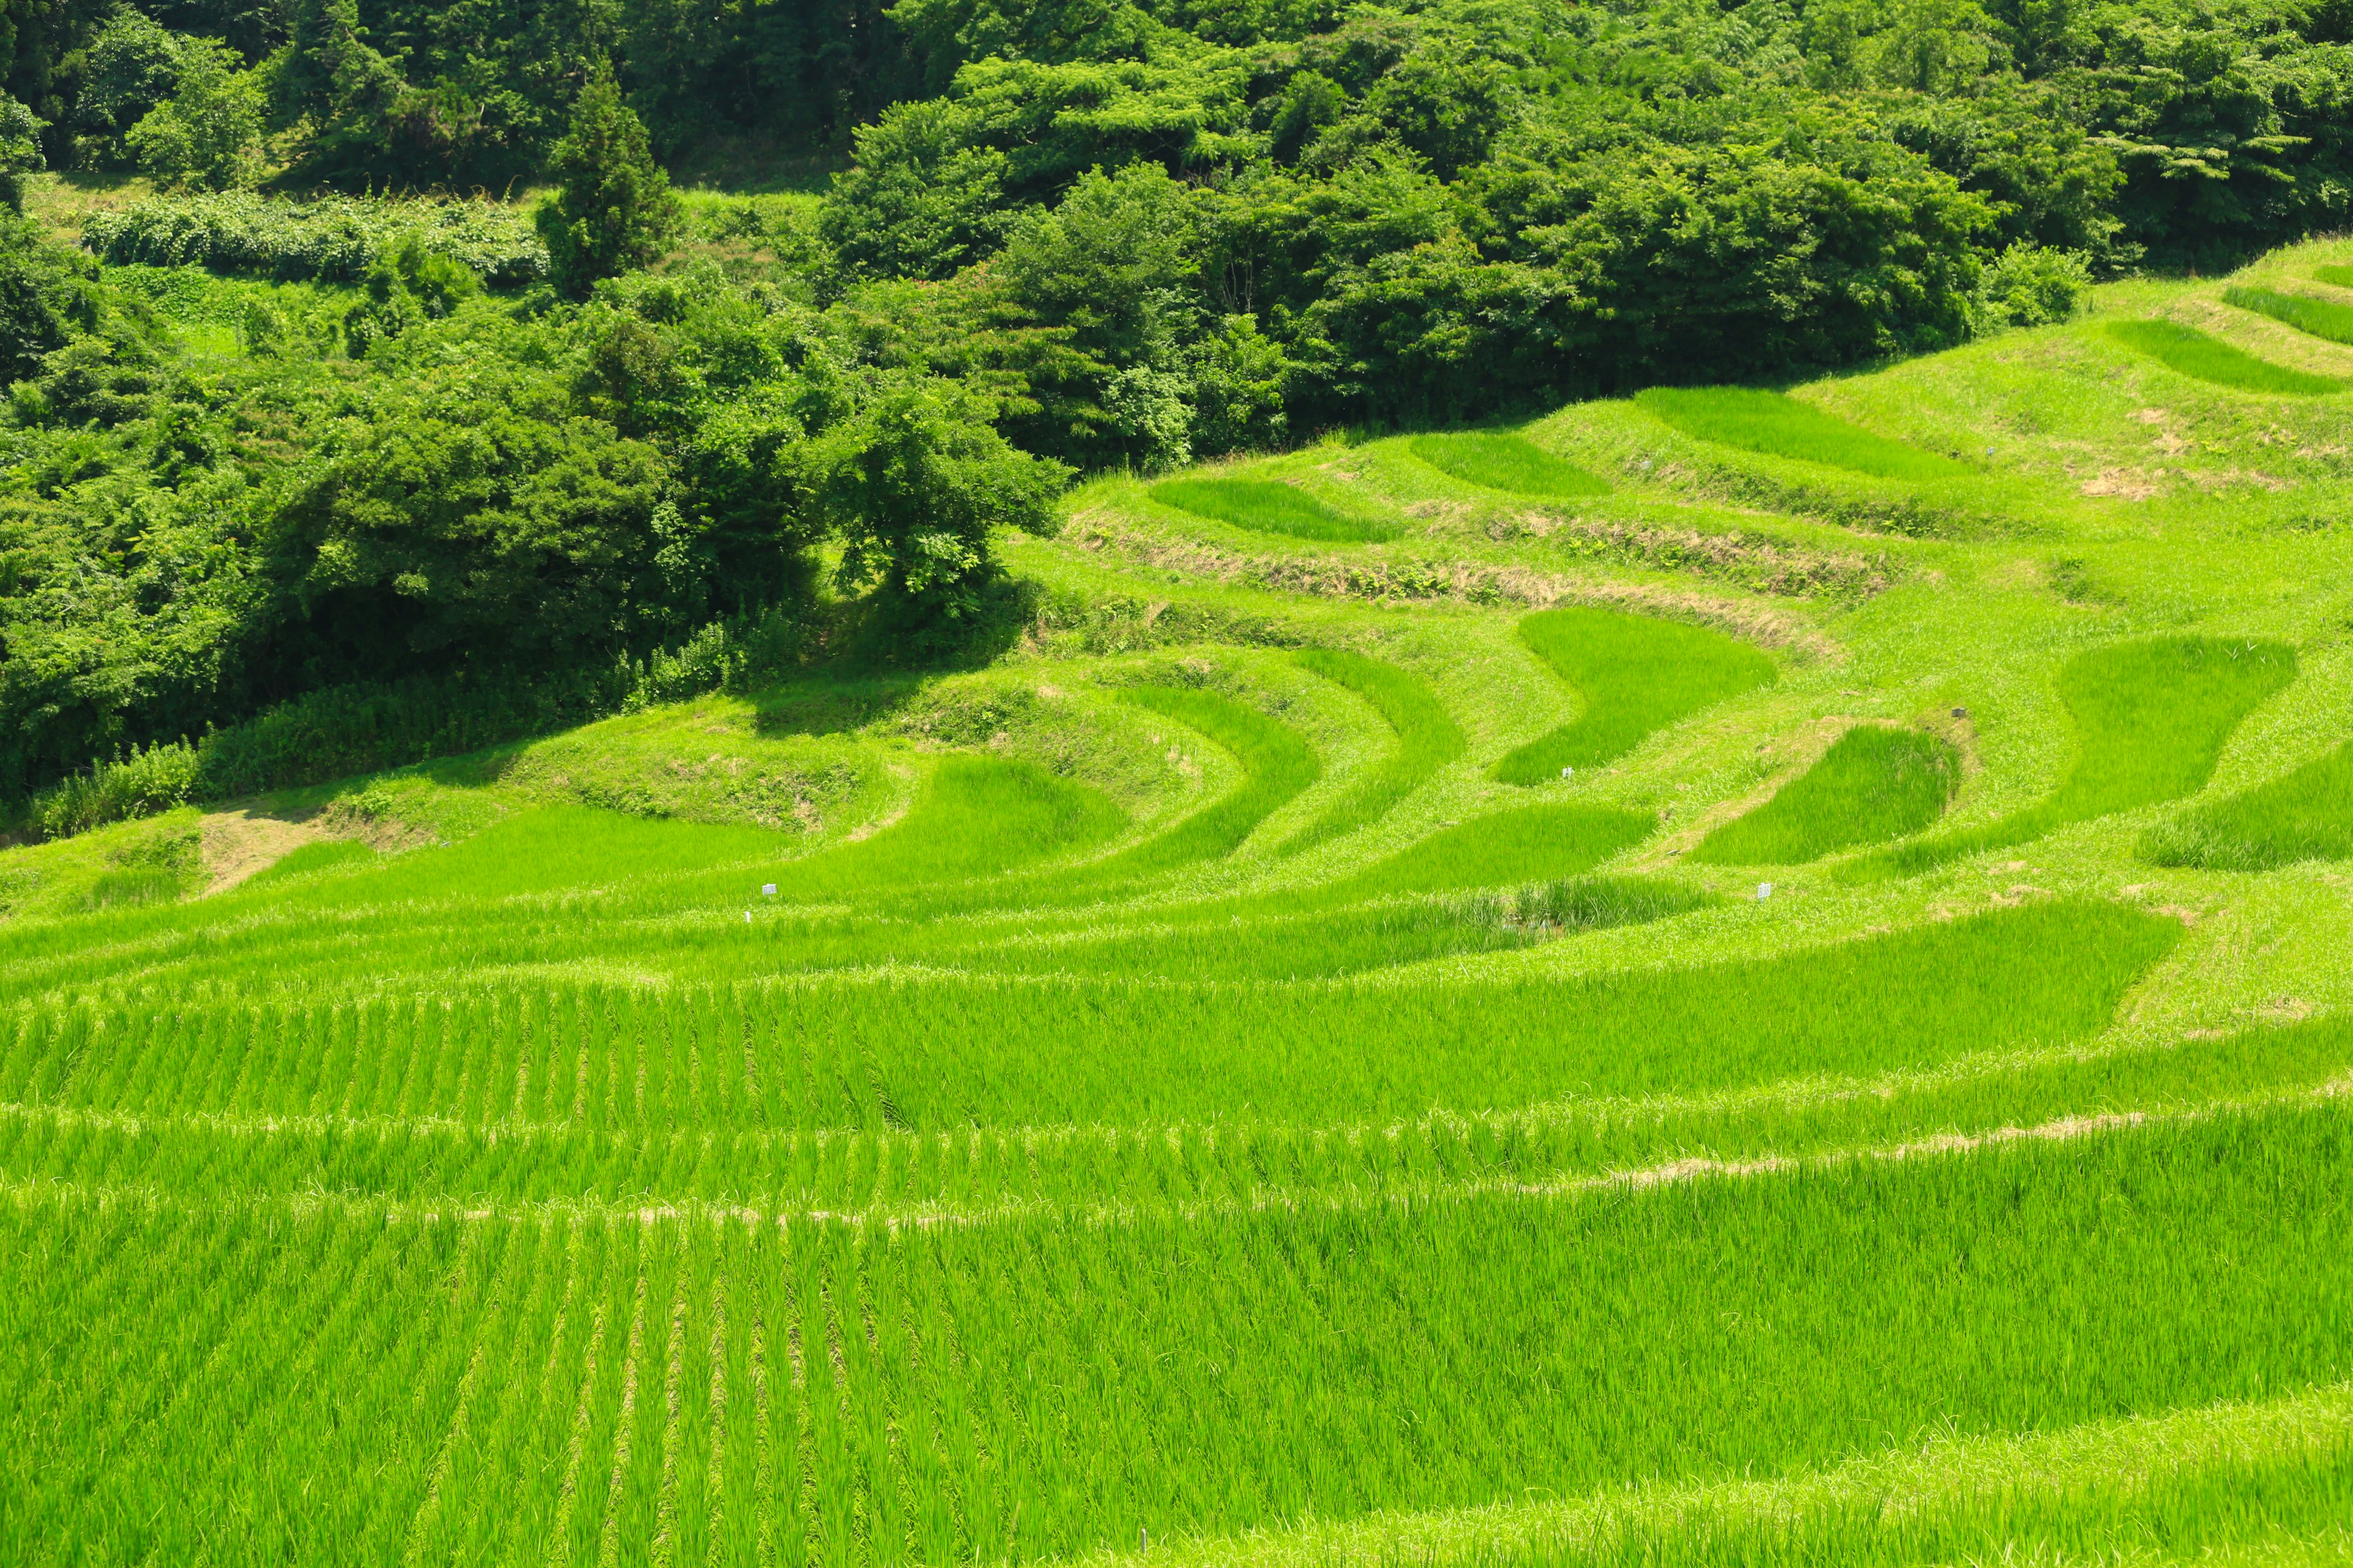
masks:
[[[0,1559],[2346,1561],[2346,395],[2167,313],[0,851]]]

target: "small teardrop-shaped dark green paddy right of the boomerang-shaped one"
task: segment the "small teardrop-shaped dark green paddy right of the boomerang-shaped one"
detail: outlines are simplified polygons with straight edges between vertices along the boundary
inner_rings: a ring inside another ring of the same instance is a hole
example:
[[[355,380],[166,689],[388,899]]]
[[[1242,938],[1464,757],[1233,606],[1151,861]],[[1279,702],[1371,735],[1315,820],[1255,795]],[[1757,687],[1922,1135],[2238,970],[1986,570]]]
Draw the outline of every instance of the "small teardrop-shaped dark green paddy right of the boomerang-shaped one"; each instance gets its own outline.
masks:
[[[1859,724],[1769,802],[1692,851],[1708,865],[1802,865],[1920,832],[1960,788],[1960,752],[1915,729]]]

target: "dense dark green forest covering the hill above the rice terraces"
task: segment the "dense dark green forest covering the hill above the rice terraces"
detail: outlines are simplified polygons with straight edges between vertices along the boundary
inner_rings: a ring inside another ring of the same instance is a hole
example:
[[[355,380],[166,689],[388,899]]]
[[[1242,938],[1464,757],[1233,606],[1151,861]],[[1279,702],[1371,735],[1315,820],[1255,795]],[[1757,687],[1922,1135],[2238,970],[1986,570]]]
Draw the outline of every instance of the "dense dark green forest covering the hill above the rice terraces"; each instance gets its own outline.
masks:
[[[0,233],[0,799],[129,748],[169,752],[134,795],[398,759],[353,731],[722,679],[847,602],[934,658],[1075,473],[2226,268],[2353,212],[2348,38],[2344,0],[0,0],[0,195],[151,190]],[[713,148],[776,179],[682,200]],[[158,303],[188,268],[245,280],[233,353]]]

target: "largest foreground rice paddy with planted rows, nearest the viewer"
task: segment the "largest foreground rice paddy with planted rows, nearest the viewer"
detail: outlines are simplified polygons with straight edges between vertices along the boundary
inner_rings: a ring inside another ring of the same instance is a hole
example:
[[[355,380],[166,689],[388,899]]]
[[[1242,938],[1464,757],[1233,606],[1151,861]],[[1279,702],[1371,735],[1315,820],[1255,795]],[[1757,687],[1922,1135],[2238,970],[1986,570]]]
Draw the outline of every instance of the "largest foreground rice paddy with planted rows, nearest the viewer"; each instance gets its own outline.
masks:
[[[0,1544],[1033,1561],[1774,1476],[2339,1378],[2348,1173],[2327,1103],[1115,1227],[12,1204]]]

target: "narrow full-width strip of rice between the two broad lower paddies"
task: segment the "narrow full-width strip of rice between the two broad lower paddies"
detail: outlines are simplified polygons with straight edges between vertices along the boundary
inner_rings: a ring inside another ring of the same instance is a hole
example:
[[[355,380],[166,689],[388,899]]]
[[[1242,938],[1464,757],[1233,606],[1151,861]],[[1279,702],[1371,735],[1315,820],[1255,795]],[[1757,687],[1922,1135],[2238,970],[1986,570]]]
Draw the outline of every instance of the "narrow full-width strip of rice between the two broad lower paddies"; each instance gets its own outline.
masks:
[[[1217,1215],[1297,1204],[1426,1201],[1595,1185],[1612,1173],[1734,1168],[1854,1150],[2007,1138],[2021,1126],[2186,1117],[2311,1098],[2353,1072],[2353,1025],[2322,1018],[2162,1046],[1991,1051],[1932,1072],[1817,1077],[1701,1095],[1565,1098],[1386,1124],[1228,1112],[1205,1124],[772,1131],[555,1121],[219,1117],[0,1107],[19,1192],[179,1204],[325,1201],[398,1213],[555,1206],[861,1215],[993,1225]]]

